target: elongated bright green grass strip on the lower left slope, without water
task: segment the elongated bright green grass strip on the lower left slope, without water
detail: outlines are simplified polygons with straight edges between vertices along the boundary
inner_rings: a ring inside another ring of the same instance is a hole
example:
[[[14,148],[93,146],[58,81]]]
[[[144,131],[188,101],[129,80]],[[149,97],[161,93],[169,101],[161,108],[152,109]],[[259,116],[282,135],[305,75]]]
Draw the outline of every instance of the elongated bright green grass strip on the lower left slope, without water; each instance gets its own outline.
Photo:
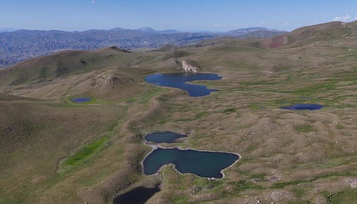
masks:
[[[84,163],[87,159],[92,157],[103,145],[109,140],[109,137],[101,137],[75,152],[74,155],[70,156],[62,163],[62,167],[70,168],[74,166],[78,166]]]

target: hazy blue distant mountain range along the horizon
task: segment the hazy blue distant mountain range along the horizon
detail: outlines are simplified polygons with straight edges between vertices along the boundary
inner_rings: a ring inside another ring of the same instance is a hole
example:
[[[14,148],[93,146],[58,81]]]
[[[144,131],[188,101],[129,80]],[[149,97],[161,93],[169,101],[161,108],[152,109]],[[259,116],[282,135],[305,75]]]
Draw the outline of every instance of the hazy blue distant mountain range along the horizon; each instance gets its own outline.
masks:
[[[16,30],[6,32],[3,29],[3,32],[0,30],[0,67],[65,49],[93,50],[107,46],[117,46],[124,49],[139,47],[157,48],[164,44],[195,44],[202,40],[221,36],[268,38],[282,33],[286,32],[261,27],[238,29],[226,33],[189,33],[176,30],[156,31],[149,27],[135,30],[114,28],[83,32],[56,30]]]

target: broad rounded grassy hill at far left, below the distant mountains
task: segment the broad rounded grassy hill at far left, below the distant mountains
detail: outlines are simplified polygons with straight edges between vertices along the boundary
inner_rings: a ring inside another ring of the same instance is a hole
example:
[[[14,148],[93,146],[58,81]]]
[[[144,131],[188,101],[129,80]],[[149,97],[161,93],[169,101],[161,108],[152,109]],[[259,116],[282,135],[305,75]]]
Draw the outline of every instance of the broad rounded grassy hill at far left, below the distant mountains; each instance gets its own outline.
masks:
[[[54,55],[38,57],[0,70],[0,86],[20,85],[36,80],[70,74],[80,74],[114,65],[126,65],[140,54],[116,47],[93,52],[69,50]]]

